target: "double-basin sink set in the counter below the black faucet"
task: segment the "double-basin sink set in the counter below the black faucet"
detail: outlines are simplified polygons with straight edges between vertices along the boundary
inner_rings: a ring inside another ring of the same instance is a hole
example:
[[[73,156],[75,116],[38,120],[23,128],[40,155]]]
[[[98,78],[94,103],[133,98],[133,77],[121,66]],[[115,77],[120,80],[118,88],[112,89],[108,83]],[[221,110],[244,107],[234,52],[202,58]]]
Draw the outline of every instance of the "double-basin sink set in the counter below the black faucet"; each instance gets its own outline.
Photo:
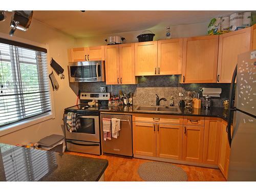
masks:
[[[136,112],[147,112],[147,113],[181,113],[178,106],[143,106],[139,105],[134,110]]]

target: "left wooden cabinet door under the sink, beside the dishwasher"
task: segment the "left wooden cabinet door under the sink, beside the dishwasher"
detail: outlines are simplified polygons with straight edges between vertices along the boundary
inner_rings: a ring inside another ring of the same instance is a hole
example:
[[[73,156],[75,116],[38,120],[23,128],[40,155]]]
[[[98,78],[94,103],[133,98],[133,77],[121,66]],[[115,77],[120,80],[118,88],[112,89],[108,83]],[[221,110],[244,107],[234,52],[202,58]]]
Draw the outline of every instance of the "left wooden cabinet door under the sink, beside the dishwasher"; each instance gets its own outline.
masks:
[[[133,122],[133,153],[156,157],[156,124]]]

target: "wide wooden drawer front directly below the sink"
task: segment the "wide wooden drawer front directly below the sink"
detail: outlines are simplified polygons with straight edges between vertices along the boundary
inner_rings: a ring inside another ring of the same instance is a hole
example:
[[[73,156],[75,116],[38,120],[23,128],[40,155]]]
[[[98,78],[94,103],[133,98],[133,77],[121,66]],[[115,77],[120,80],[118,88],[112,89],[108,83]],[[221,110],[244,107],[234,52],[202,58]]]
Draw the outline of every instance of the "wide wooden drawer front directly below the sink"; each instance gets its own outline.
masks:
[[[164,124],[182,124],[183,117],[179,115],[135,114],[133,115],[133,121]]]

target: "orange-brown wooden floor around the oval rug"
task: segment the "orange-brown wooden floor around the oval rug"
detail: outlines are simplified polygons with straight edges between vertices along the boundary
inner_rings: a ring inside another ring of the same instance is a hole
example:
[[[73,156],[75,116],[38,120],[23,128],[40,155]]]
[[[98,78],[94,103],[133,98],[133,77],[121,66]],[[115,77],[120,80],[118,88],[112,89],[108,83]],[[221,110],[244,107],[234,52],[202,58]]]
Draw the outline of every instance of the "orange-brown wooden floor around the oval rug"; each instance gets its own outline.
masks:
[[[141,163],[151,161],[137,158],[125,158],[114,155],[97,156],[76,152],[65,152],[65,154],[109,160],[109,166],[105,170],[105,181],[143,181],[137,173],[138,167]],[[175,165],[185,170],[188,176],[188,181],[226,181],[219,169],[182,164]]]

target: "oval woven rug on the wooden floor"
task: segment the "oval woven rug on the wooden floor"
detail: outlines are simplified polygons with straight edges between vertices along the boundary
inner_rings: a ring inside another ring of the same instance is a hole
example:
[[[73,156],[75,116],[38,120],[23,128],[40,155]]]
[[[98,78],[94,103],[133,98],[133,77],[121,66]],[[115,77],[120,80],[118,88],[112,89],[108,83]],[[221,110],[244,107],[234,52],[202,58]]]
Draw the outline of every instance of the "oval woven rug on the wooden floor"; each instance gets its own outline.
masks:
[[[163,162],[145,162],[138,168],[144,181],[187,181],[187,174],[180,167]]]

